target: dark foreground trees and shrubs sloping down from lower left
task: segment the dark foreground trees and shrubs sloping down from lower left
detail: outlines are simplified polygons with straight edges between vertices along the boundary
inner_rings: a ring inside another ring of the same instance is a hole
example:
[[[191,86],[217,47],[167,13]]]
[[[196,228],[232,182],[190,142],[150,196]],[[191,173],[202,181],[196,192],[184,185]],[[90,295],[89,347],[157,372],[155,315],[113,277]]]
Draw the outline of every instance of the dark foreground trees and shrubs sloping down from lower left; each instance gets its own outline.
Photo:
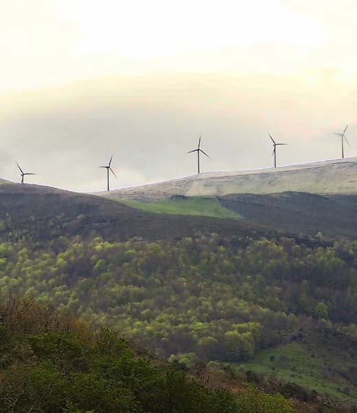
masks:
[[[28,298],[0,303],[0,411],[16,413],[292,413],[280,394],[204,386],[108,329]]]

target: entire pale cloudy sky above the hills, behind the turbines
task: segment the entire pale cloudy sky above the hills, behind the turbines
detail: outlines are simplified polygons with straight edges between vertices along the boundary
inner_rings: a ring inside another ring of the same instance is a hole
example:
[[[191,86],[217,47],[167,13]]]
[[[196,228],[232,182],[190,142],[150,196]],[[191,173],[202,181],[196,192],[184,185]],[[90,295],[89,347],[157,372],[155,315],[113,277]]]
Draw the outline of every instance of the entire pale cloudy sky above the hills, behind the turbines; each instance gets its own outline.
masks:
[[[0,177],[75,191],[357,155],[353,0],[0,0]]]

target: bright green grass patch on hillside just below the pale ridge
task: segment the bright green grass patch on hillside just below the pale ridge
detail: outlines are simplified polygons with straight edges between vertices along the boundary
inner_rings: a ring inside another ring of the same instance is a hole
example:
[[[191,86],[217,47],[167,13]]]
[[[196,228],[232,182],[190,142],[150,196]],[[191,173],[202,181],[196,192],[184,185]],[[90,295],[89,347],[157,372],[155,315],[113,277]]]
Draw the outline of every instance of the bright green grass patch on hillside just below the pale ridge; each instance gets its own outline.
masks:
[[[201,215],[205,217],[229,218],[239,220],[242,217],[231,209],[222,207],[215,197],[192,196],[187,198],[171,198],[158,202],[141,203],[120,200],[122,204],[153,213],[168,213],[173,215]]]

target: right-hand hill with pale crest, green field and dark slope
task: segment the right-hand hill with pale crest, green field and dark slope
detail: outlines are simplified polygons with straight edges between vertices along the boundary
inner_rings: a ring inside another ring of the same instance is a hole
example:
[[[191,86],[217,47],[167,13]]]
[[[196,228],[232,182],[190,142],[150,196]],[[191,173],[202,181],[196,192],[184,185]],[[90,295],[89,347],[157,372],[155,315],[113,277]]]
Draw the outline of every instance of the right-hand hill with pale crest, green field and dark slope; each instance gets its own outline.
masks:
[[[239,219],[266,231],[357,235],[357,157],[206,172],[94,195],[160,214]]]

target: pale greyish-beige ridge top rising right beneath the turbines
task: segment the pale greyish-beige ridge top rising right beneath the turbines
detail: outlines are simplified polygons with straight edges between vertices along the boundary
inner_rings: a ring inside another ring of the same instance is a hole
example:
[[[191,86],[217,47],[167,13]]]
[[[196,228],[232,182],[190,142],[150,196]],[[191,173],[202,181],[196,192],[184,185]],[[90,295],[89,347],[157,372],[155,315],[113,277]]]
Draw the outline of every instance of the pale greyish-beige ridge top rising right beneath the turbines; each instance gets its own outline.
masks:
[[[285,167],[204,172],[150,185],[97,192],[111,199],[159,201],[172,196],[227,196],[237,193],[319,194],[357,193],[357,157],[333,159]]]

